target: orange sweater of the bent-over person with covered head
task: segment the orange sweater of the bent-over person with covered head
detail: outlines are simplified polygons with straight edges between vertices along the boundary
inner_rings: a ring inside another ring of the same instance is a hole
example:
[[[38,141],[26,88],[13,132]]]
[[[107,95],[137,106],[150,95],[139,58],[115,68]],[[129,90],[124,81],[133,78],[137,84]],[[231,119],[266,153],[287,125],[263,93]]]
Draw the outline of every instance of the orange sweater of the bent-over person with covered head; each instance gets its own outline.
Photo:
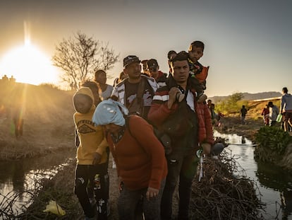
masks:
[[[131,190],[145,187],[159,190],[167,174],[164,147],[155,137],[152,126],[142,117],[133,115],[129,120],[130,132],[126,129],[117,144],[110,134],[107,136],[118,176]]]

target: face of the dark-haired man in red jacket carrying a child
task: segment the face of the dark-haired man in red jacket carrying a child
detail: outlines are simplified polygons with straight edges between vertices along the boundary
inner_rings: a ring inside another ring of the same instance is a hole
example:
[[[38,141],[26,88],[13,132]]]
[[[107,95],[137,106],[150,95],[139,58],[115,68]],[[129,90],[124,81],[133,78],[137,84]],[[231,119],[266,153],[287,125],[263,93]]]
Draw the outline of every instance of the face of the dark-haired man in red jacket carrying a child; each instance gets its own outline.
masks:
[[[184,83],[188,80],[190,68],[188,61],[175,61],[171,63],[171,74],[177,83]]]

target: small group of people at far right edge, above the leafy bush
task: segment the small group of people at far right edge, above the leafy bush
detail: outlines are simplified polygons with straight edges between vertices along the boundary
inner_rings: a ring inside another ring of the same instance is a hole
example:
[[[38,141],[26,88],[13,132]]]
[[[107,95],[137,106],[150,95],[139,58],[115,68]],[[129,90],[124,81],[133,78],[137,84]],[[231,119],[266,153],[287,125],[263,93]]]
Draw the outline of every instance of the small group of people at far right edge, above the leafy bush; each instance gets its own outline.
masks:
[[[277,122],[281,122],[284,131],[290,132],[292,130],[292,95],[288,93],[287,87],[282,88],[282,93],[280,109],[269,101],[262,109],[261,115],[264,125],[275,126]]]

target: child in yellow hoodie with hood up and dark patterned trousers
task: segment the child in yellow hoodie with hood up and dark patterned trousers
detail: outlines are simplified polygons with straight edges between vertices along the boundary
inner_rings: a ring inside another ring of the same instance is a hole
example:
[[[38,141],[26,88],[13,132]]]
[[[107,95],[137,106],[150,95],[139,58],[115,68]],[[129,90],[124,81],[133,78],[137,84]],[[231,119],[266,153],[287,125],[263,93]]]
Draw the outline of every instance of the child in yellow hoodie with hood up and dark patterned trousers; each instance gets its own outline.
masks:
[[[101,126],[95,126],[92,115],[95,112],[94,95],[90,88],[82,87],[73,95],[75,129],[80,141],[77,149],[74,192],[83,207],[85,219],[96,219],[87,195],[88,180],[94,179],[98,219],[107,219],[107,140]]]

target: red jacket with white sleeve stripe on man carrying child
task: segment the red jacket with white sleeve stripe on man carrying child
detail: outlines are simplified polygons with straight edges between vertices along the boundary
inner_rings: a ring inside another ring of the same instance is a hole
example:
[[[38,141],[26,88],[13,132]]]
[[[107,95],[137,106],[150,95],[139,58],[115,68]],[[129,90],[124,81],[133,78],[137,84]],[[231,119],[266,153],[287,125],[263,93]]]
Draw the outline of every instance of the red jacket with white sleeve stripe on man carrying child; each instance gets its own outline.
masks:
[[[195,97],[195,91],[191,91]],[[167,108],[167,100],[169,100],[169,88],[164,86],[159,88],[155,93],[150,111],[148,113],[148,120],[153,125],[160,127],[164,120],[178,108],[178,104],[174,103],[171,109]],[[194,99],[195,112],[197,112],[198,120],[198,141],[202,143],[214,143],[212,119],[209,113],[209,108],[206,103],[197,103]]]

